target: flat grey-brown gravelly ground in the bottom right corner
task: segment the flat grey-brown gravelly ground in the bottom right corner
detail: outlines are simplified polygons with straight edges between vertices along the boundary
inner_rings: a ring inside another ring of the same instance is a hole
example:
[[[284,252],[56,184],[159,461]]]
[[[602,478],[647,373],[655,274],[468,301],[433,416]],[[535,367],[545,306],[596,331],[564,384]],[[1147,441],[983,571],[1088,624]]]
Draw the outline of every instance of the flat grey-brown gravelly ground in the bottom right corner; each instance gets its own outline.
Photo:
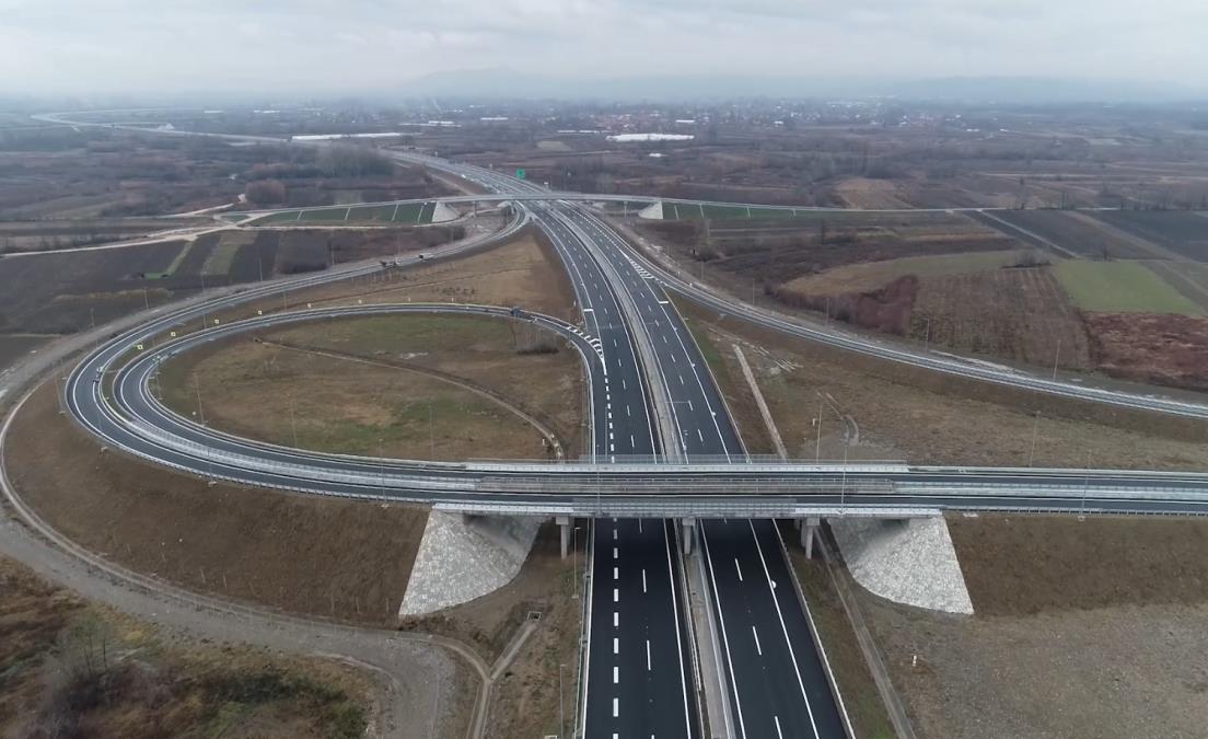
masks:
[[[865,595],[923,739],[1201,737],[1204,606],[946,617]]]

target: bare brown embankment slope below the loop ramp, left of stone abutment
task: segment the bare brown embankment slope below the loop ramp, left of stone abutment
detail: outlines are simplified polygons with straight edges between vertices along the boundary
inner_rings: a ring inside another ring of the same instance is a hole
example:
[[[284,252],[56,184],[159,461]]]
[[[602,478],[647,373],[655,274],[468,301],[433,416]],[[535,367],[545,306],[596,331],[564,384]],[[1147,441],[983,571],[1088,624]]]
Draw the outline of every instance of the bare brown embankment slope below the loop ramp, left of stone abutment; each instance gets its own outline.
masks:
[[[208,486],[101,450],[58,414],[53,383],[22,409],[6,462],[47,523],[132,570],[355,622],[393,623],[428,520],[405,506]]]

